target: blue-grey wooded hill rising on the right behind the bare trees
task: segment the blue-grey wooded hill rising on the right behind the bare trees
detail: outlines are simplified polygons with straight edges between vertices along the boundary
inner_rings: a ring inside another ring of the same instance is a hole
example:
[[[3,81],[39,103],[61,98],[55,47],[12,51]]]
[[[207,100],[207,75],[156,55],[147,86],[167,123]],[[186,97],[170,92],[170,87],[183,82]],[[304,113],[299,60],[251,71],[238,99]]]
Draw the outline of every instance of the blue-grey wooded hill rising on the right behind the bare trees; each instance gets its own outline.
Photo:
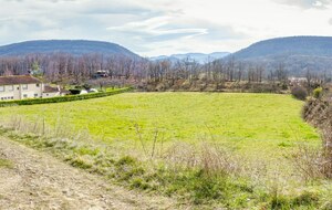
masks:
[[[332,70],[332,36],[289,36],[251,44],[229,56],[263,65],[267,70],[282,64],[292,74]]]

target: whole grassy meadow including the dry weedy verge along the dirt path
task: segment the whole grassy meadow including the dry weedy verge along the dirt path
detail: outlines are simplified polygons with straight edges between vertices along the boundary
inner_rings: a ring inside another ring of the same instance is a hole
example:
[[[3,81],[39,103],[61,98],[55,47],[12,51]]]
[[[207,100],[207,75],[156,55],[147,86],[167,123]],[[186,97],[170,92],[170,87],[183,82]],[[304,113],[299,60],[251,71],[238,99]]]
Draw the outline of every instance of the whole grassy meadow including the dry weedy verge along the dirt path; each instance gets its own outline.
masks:
[[[289,95],[126,93],[1,108],[1,135],[197,209],[329,209],[331,182],[294,161],[300,146],[320,148],[302,105]]]

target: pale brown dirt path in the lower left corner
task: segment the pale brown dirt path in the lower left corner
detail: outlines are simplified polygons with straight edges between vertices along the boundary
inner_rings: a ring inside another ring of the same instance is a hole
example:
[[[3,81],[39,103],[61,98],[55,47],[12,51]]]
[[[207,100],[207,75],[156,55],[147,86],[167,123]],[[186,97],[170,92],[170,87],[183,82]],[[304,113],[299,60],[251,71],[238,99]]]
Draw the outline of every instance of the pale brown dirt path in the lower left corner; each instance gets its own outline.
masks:
[[[0,209],[175,209],[167,198],[112,186],[102,177],[75,169],[48,154],[0,137]]]

